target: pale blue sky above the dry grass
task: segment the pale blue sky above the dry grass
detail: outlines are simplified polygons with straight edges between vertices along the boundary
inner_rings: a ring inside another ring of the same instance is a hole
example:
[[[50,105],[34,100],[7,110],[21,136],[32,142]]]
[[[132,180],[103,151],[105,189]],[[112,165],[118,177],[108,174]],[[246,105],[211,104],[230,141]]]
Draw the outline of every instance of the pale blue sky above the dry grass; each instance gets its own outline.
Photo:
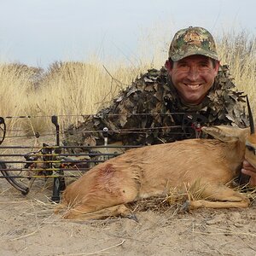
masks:
[[[92,53],[129,57],[142,34],[171,40],[186,26],[255,34],[255,10],[255,0],[0,0],[0,61],[45,68]]]

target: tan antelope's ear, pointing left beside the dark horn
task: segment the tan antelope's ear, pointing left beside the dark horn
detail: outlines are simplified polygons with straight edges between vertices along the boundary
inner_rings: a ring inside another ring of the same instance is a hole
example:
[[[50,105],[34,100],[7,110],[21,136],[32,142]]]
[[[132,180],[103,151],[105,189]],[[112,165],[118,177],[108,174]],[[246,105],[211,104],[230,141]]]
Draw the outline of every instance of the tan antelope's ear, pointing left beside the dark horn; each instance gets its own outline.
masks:
[[[224,143],[235,143],[239,140],[244,141],[246,135],[249,133],[248,128],[241,129],[230,125],[205,126],[202,127],[202,131]]]

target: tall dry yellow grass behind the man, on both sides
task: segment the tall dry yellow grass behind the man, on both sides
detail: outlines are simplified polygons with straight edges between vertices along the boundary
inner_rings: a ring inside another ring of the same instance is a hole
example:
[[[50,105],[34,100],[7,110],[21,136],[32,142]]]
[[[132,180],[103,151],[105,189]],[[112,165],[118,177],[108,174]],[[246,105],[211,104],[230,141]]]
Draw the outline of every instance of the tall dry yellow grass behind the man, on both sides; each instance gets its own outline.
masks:
[[[27,132],[53,128],[49,118],[53,114],[60,115],[62,127],[77,123],[82,120],[79,115],[96,113],[108,106],[113,96],[140,73],[164,65],[168,44],[162,42],[154,49],[155,58],[138,55],[137,61],[130,60],[129,65],[115,61],[103,64],[96,59],[55,62],[43,72],[40,68],[3,63],[0,65],[0,115],[31,115],[30,119],[9,121],[9,127]],[[217,44],[221,62],[230,64],[237,88],[248,93],[255,110],[255,36],[224,32],[217,38]]]

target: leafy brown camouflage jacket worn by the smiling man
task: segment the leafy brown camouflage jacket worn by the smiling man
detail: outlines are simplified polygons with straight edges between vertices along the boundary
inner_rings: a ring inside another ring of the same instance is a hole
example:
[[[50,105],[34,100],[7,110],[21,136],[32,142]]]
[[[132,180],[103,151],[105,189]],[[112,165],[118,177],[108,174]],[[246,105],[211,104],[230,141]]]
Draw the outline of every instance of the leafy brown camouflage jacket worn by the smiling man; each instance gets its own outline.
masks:
[[[108,142],[128,145],[169,143],[201,137],[201,125],[247,126],[243,92],[236,91],[229,69],[223,66],[207,97],[197,106],[180,101],[165,67],[151,69],[119,93],[108,108],[84,116],[71,125],[64,144],[103,143],[102,130],[108,128]],[[90,138],[90,139],[89,139]]]

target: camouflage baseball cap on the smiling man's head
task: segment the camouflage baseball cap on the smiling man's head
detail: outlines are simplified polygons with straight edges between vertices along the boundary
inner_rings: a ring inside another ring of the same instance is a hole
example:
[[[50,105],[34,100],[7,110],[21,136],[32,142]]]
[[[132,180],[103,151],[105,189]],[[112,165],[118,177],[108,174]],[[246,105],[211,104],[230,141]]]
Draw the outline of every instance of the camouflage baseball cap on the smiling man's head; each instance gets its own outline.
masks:
[[[169,58],[172,61],[179,61],[190,55],[205,55],[218,61],[214,39],[205,28],[189,26],[174,35],[169,49]]]

